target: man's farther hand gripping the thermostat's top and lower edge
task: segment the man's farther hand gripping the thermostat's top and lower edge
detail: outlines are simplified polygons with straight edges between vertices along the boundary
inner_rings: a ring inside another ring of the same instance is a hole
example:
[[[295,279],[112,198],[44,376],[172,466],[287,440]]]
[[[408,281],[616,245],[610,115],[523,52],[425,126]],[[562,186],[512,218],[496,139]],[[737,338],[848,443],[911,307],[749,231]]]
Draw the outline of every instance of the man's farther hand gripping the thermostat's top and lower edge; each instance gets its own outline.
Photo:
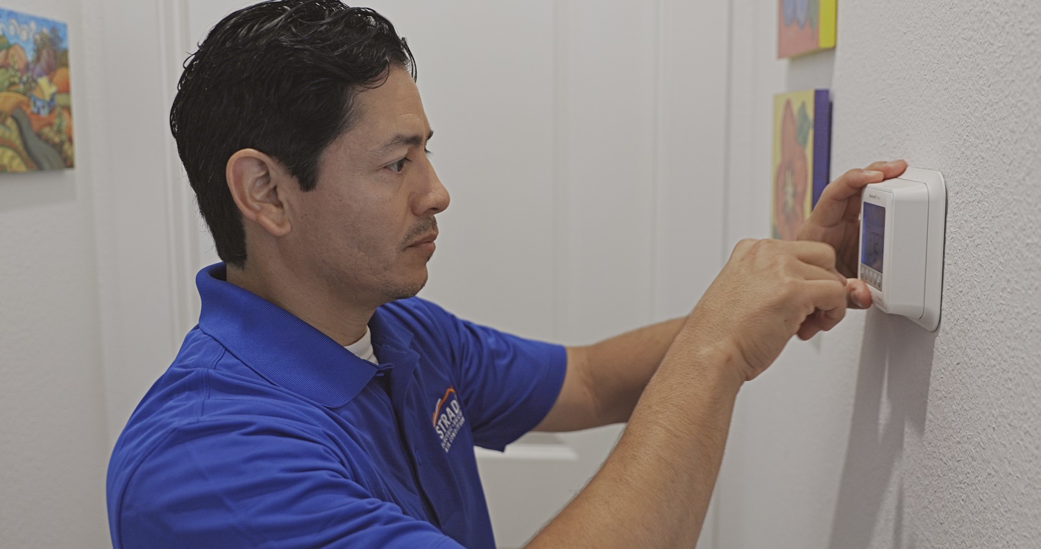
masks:
[[[861,191],[870,183],[899,176],[907,167],[908,163],[904,160],[878,161],[864,170],[849,170],[842,174],[824,188],[813,213],[798,229],[798,240],[822,242],[835,248],[836,269],[842,276],[850,278],[852,307],[871,306],[871,293],[858,279]]]

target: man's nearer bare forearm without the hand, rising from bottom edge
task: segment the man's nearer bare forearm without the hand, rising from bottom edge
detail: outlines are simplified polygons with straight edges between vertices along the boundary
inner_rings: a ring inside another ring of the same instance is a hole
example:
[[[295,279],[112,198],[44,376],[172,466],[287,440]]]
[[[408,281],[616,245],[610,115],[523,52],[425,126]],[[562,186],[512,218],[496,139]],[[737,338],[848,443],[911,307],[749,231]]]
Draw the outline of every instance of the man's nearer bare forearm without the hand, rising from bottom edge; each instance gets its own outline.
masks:
[[[680,335],[603,468],[530,548],[694,546],[741,384],[712,353]]]

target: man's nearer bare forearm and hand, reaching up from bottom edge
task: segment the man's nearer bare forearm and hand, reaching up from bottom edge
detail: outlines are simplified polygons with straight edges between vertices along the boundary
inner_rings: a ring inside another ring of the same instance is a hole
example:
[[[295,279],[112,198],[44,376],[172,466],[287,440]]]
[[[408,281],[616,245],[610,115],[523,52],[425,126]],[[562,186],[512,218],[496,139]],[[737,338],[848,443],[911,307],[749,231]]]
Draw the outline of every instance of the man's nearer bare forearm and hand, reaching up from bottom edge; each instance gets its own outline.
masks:
[[[738,390],[802,333],[845,314],[835,253],[745,241],[668,347],[626,431],[589,484],[527,546],[693,547]]]

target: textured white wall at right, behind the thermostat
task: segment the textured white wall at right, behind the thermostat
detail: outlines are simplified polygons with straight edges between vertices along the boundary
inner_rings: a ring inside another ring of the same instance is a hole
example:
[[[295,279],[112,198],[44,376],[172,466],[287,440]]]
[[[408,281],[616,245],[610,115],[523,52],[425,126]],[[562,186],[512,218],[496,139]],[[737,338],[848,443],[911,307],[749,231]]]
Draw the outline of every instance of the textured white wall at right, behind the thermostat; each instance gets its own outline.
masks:
[[[833,176],[946,177],[943,316],[853,314],[743,390],[718,546],[1041,547],[1041,4],[844,1],[837,50],[791,61],[759,4],[734,4],[732,145],[755,168],[732,158],[729,235],[765,235],[769,95],[831,86]]]

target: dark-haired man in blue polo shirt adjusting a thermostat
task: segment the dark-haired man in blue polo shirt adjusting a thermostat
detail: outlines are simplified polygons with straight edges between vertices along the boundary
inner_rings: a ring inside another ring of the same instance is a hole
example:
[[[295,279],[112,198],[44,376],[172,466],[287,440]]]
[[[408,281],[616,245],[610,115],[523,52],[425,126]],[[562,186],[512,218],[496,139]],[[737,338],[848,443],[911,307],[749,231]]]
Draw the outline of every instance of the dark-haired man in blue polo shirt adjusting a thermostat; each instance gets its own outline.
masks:
[[[692,547],[741,384],[870,302],[859,191],[903,163],[833,182],[819,242],[740,243],[686,319],[573,348],[456,319],[413,297],[449,205],[413,79],[336,0],[239,10],[187,64],[171,125],[224,264],[113,450],[116,548],[491,548],[474,445],[626,421],[530,547]]]

